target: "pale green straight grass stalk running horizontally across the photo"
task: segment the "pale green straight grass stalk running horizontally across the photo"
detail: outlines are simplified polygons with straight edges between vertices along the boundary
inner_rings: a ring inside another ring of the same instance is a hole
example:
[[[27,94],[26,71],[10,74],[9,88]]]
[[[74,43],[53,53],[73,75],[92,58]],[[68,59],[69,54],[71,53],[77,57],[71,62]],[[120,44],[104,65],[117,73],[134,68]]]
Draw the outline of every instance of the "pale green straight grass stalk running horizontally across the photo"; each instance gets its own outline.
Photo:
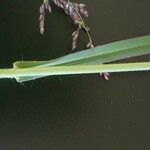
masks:
[[[150,70],[150,62],[122,63],[122,64],[102,64],[102,65],[73,65],[73,66],[52,66],[42,68],[25,69],[0,69],[0,78],[15,78],[20,81],[20,77],[69,75],[69,74],[89,74],[104,72],[129,72]]]

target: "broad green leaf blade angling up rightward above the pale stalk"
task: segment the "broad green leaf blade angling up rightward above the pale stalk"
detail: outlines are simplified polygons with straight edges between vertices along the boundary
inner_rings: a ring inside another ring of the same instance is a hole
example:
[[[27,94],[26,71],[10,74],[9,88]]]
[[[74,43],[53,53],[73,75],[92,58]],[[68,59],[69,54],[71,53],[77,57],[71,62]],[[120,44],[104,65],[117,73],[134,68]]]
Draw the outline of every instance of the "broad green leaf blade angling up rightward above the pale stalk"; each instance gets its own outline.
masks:
[[[150,35],[113,42],[93,49],[69,54],[51,61],[21,61],[15,68],[48,67],[56,65],[100,64],[129,57],[150,54]]]

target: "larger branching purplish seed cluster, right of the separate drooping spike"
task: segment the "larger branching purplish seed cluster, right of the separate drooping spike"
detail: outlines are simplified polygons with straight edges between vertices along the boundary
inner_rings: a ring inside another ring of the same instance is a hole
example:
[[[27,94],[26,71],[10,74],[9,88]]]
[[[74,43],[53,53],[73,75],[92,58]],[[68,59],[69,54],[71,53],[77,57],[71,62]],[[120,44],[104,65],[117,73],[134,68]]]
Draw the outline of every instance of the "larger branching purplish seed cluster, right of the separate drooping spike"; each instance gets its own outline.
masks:
[[[94,46],[89,33],[89,28],[86,27],[84,20],[81,16],[81,14],[83,14],[86,17],[89,16],[88,11],[85,9],[86,5],[73,3],[70,2],[69,0],[52,0],[52,1],[58,7],[64,9],[65,13],[70,16],[74,24],[78,25],[78,29],[72,33],[72,50],[76,49],[77,47],[77,40],[81,29],[84,29],[86,31],[89,38],[87,48],[93,48]]]

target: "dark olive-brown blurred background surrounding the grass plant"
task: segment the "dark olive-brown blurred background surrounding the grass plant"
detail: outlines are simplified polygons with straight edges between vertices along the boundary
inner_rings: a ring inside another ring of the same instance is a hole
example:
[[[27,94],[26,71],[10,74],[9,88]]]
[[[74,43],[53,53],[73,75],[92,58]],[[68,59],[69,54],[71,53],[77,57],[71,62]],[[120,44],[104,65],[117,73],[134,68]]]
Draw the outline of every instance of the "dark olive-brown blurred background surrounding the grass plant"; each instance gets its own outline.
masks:
[[[150,34],[148,0],[74,0],[87,4],[95,45]],[[76,29],[52,5],[38,28],[42,0],[1,0],[0,67],[69,54]],[[78,50],[85,49],[82,32]],[[149,60],[135,58],[134,61]],[[128,62],[131,60],[128,60]],[[149,150],[150,73],[53,76],[20,84],[0,80],[0,150]]]

